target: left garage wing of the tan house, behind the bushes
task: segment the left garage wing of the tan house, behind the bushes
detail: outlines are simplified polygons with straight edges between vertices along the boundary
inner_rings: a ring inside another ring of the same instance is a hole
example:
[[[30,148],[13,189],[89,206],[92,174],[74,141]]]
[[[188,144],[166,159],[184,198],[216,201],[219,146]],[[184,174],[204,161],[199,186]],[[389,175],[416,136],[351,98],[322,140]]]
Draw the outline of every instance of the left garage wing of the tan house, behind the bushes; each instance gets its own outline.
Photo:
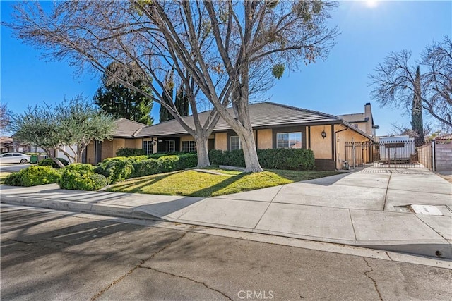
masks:
[[[129,119],[118,119],[115,121],[117,130],[112,135],[112,140],[104,140],[91,142],[86,147],[82,155],[83,163],[97,164],[106,158],[116,156],[118,149],[123,147],[143,148],[143,140],[136,139],[136,135],[141,129],[148,127],[143,123],[130,121]],[[148,147],[148,145],[146,145]],[[150,147],[150,145],[149,145]]]

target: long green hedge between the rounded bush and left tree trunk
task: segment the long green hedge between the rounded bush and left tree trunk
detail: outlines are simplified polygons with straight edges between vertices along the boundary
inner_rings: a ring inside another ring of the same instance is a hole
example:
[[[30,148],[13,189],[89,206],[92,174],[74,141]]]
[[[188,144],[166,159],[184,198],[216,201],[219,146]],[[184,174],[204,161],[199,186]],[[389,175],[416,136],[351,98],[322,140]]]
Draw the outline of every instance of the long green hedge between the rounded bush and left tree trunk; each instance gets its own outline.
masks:
[[[156,157],[157,159],[153,159]],[[180,171],[198,164],[196,154],[155,154],[150,156],[115,157],[102,161],[95,172],[105,176],[108,183],[116,183],[127,178],[150,176],[156,173]]]

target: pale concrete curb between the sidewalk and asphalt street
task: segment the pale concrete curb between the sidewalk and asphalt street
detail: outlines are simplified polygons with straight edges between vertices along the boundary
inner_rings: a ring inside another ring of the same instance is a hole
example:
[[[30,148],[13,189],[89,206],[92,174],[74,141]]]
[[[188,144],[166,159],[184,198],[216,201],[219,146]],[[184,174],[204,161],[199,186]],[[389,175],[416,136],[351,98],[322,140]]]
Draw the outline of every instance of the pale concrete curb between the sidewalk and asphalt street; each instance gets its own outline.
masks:
[[[242,231],[246,233],[258,233],[273,235],[285,238],[296,238],[316,242],[328,242],[340,245],[350,245],[354,247],[365,247],[374,250],[390,252],[400,252],[405,254],[415,254],[424,257],[452,259],[452,245],[447,240],[403,240],[403,241],[359,241],[359,240],[337,240],[331,238],[320,238],[307,235],[297,235],[295,233],[279,233],[276,231],[258,230],[253,228],[243,228],[226,226],[214,223],[203,223],[186,221],[184,219],[172,219],[159,214],[143,210],[140,207],[128,207],[112,204],[87,203],[79,201],[54,200],[42,197],[19,197],[10,195],[0,195],[0,202],[5,204],[18,204],[30,207],[42,207],[61,211],[75,211],[87,214],[98,214],[127,219],[144,219],[152,221],[170,221],[174,223],[184,223],[195,226],[206,226],[210,228],[221,228],[232,231]]]

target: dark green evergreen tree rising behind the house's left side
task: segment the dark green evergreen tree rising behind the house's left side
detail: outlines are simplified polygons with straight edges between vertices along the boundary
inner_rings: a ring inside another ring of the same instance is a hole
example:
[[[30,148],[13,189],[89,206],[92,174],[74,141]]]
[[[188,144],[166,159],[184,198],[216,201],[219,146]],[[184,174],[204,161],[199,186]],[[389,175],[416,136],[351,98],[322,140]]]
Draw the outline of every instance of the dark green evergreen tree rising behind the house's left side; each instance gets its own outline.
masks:
[[[116,67],[110,65],[109,70],[114,72]],[[127,73],[126,76],[130,78],[131,72]],[[150,93],[149,85],[139,78],[133,80],[133,86]],[[107,74],[102,75],[102,87],[97,89],[93,99],[103,112],[109,113],[115,118],[126,118],[146,125],[152,125],[154,122],[154,119],[150,116],[150,111],[153,108],[152,99],[124,87],[118,82],[110,82]]]

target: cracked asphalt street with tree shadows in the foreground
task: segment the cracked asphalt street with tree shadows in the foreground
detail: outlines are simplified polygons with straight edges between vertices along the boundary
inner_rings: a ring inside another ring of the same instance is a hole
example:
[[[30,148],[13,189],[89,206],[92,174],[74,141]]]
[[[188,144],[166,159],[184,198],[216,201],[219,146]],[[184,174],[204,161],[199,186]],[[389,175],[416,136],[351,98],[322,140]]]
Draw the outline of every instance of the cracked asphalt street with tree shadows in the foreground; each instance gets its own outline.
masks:
[[[176,226],[2,204],[1,300],[452,299],[450,269]]]

